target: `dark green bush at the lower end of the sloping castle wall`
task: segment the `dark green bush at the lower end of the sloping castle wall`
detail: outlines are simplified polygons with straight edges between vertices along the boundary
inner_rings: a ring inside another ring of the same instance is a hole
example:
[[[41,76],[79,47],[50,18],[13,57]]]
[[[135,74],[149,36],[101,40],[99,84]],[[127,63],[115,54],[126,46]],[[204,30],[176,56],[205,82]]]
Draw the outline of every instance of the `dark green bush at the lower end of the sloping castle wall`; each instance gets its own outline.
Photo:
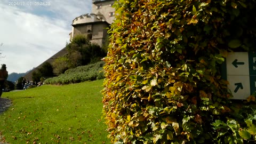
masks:
[[[42,67],[32,73],[32,81],[40,82],[41,77],[53,77],[53,68],[51,63],[45,62]]]

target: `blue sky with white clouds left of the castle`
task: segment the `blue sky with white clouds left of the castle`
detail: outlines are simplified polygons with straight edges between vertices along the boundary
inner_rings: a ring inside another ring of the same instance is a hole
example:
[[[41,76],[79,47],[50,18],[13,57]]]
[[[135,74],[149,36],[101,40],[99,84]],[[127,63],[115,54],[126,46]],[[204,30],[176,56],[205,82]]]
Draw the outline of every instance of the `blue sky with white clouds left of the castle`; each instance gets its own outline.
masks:
[[[9,74],[39,66],[66,46],[72,21],[91,6],[92,0],[0,0],[0,64]]]

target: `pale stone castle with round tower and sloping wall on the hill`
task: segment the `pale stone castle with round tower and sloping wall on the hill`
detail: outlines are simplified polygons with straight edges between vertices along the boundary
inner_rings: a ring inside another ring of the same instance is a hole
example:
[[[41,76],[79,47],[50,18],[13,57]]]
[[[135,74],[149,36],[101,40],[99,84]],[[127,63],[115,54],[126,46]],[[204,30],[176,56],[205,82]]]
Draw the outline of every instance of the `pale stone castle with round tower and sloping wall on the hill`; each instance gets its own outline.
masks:
[[[90,14],[82,14],[72,21],[72,31],[69,34],[70,40],[78,34],[83,34],[90,39],[91,43],[96,43],[99,46],[106,44],[108,38],[107,28],[115,19],[115,9],[112,7],[114,2],[115,0],[92,0],[92,12]],[[66,47],[43,63],[52,63],[55,59],[65,54],[67,54]],[[29,71],[23,77],[32,81],[33,72],[41,68],[43,63]]]

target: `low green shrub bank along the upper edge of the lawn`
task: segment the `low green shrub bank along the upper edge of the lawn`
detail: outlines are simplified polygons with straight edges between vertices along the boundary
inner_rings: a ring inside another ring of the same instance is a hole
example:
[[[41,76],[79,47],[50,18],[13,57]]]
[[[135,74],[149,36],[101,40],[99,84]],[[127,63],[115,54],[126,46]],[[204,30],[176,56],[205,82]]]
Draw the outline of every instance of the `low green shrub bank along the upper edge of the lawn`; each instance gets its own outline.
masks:
[[[100,61],[86,66],[79,66],[74,69],[68,69],[64,74],[57,77],[48,78],[45,80],[46,84],[70,84],[80,83],[84,81],[94,81],[96,79],[102,79],[103,71],[102,67],[105,62]]]

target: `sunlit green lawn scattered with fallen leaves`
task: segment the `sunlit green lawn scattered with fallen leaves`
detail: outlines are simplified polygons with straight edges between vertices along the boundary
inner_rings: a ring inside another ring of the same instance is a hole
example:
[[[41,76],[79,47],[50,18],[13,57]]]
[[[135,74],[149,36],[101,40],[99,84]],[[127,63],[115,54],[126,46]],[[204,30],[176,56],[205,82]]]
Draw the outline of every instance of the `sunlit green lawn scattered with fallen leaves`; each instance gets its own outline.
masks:
[[[0,131],[10,143],[110,143],[102,117],[102,83],[3,93],[13,105],[0,115]]]

